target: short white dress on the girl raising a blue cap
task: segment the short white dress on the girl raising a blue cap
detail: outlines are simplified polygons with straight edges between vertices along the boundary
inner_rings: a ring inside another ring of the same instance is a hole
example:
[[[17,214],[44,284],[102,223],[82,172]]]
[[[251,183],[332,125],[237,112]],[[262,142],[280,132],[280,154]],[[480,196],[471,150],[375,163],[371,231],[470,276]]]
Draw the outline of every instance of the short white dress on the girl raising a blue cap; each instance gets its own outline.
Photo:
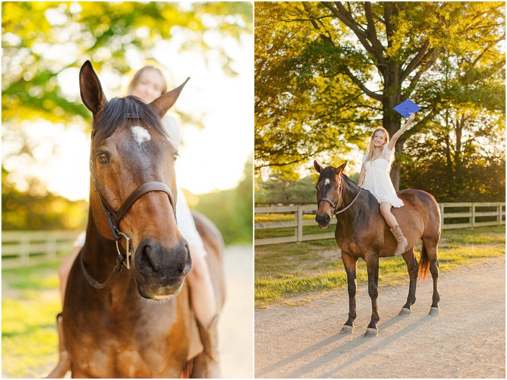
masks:
[[[365,154],[363,164],[365,165],[366,178],[363,188],[369,190],[379,203],[389,202],[396,208],[403,206],[403,201],[397,197],[396,190],[394,190],[389,177],[389,167],[394,160],[394,148],[390,151],[386,144],[379,158],[373,162],[367,161],[366,158]]]

